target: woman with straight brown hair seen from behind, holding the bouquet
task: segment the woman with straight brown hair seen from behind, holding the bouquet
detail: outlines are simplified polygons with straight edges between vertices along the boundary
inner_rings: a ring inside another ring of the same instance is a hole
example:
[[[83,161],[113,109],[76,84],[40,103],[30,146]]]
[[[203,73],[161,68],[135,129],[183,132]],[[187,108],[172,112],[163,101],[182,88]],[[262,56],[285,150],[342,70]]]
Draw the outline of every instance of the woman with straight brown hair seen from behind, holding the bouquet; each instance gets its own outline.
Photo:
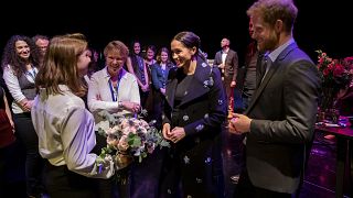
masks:
[[[114,175],[114,163],[106,160],[101,169],[97,155],[94,118],[79,98],[86,88],[81,80],[90,57],[83,34],[51,40],[44,66],[35,79],[39,95],[31,116],[39,136],[40,154],[46,158],[44,185],[51,198],[96,197],[95,178]]]

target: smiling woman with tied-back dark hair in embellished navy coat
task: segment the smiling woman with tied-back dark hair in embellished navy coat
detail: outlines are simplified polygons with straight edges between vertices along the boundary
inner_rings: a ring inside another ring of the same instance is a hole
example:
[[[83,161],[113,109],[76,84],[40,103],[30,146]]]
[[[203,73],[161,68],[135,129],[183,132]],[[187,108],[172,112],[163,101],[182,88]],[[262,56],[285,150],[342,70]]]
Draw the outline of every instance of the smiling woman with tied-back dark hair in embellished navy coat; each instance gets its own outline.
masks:
[[[221,131],[226,100],[218,69],[212,69],[199,46],[192,32],[171,42],[176,68],[169,72],[162,132],[172,146],[161,197],[224,197]]]

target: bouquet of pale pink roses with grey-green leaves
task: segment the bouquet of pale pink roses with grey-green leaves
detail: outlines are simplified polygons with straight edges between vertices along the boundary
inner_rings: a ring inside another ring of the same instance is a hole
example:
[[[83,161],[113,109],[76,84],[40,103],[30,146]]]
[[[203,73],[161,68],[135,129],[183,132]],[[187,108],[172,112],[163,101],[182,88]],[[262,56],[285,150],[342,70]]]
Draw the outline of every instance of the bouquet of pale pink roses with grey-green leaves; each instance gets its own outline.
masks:
[[[157,146],[170,146],[161,132],[153,124],[135,117],[124,117],[108,111],[99,112],[99,116],[108,121],[106,127],[100,125],[98,133],[107,138],[107,146],[101,148],[101,153],[96,160],[96,164],[101,166],[105,158],[113,158],[117,169],[128,166],[138,158],[142,158],[152,153]]]

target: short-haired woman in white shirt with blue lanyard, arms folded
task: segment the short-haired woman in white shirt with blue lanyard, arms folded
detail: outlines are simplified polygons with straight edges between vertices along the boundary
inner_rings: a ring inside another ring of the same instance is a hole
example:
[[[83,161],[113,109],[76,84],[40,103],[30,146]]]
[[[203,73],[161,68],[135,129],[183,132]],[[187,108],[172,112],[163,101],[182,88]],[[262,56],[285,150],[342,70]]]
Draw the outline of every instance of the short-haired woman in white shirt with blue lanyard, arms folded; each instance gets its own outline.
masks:
[[[140,109],[140,95],[136,77],[122,68],[128,55],[128,47],[122,42],[113,41],[108,43],[104,50],[106,67],[90,77],[87,101],[89,110],[95,116],[96,129],[104,124],[98,116],[101,110],[107,110],[110,113],[133,116]],[[106,145],[105,139],[99,140],[98,138],[96,152],[100,152],[100,146],[104,147]],[[120,175],[129,177],[127,168],[119,172]],[[119,183],[118,188],[119,197],[129,197],[129,182]]]

